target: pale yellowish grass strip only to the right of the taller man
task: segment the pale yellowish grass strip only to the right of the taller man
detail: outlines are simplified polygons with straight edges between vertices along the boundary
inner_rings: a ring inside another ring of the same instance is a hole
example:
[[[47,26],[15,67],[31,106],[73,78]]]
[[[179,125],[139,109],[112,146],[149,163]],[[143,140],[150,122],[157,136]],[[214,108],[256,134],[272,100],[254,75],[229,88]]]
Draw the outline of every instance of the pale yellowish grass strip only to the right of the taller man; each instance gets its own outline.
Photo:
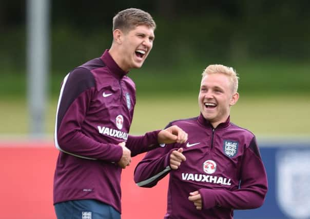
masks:
[[[198,95],[138,99],[131,131],[163,128],[169,121],[199,114]],[[243,97],[231,108],[231,122],[257,135],[310,136],[309,96]]]

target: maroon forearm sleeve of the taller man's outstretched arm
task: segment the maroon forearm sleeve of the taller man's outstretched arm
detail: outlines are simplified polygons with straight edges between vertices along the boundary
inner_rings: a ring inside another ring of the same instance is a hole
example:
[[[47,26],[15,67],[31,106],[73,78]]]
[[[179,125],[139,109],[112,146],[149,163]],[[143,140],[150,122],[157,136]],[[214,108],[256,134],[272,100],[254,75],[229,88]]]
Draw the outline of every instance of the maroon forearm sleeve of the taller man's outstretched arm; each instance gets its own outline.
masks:
[[[130,149],[131,156],[144,153],[159,147],[158,133],[161,130],[147,132],[145,135],[133,136],[129,135],[126,147]]]

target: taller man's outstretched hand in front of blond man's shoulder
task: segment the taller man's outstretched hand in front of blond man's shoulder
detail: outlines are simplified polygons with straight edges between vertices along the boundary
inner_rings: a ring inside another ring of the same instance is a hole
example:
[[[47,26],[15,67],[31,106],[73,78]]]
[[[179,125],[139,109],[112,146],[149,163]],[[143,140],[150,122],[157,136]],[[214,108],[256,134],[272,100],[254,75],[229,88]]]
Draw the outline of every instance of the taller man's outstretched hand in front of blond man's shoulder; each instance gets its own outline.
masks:
[[[159,144],[184,143],[187,141],[187,133],[178,126],[170,126],[161,130],[157,139]]]

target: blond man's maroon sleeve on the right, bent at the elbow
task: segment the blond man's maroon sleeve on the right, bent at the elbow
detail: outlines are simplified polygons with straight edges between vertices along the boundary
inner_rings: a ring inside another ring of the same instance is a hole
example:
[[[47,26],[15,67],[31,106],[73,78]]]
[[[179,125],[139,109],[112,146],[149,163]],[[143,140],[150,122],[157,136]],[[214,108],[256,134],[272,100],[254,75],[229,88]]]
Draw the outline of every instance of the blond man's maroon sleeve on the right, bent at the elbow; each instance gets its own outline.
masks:
[[[263,205],[268,190],[267,175],[255,137],[244,153],[240,188],[236,191],[200,189],[203,209],[215,206],[253,209]]]

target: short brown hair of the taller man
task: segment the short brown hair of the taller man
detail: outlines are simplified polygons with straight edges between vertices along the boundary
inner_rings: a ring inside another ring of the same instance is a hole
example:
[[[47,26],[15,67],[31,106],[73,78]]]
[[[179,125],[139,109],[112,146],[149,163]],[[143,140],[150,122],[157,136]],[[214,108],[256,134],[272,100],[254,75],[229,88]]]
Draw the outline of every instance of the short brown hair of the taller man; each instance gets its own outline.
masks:
[[[128,8],[113,17],[112,31],[120,29],[128,32],[138,25],[147,25],[154,30],[156,28],[156,24],[149,13],[137,8]]]

